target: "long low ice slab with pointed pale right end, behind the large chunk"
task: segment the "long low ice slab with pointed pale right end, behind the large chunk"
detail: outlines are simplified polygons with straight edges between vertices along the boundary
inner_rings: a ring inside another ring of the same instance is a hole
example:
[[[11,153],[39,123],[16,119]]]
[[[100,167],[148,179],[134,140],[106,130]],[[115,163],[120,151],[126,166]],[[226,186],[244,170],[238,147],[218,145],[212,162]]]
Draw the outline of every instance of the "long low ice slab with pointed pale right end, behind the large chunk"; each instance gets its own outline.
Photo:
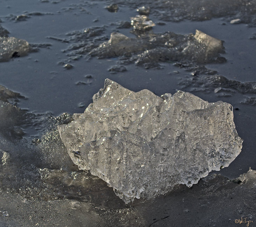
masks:
[[[134,25],[135,26],[135,25]],[[196,63],[223,62],[220,57],[224,52],[222,41],[202,31],[195,34],[179,35],[173,32],[163,34],[144,34],[129,38],[113,32],[109,41],[90,51],[91,56],[100,58],[119,57],[119,63],[137,65],[164,61],[189,60]]]

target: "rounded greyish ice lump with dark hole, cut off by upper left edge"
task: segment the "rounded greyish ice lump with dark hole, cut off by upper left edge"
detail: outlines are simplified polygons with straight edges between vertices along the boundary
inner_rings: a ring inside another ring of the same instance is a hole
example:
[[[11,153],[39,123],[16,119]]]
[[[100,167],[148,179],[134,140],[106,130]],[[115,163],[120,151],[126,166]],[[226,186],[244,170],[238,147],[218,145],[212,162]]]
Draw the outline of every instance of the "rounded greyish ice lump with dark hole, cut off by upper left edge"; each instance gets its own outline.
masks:
[[[25,56],[30,51],[27,41],[14,37],[0,37],[0,62]]]

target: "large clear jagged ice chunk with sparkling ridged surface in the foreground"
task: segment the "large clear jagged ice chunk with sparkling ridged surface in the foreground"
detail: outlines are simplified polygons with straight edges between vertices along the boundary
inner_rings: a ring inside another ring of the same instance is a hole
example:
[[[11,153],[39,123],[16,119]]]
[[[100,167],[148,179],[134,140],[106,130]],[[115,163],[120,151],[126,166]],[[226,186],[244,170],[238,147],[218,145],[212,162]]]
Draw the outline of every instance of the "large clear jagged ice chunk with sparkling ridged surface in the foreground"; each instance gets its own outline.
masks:
[[[161,97],[109,79],[74,121],[58,126],[79,169],[113,187],[125,203],[198,183],[241,152],[233,108],[178,91]]]

